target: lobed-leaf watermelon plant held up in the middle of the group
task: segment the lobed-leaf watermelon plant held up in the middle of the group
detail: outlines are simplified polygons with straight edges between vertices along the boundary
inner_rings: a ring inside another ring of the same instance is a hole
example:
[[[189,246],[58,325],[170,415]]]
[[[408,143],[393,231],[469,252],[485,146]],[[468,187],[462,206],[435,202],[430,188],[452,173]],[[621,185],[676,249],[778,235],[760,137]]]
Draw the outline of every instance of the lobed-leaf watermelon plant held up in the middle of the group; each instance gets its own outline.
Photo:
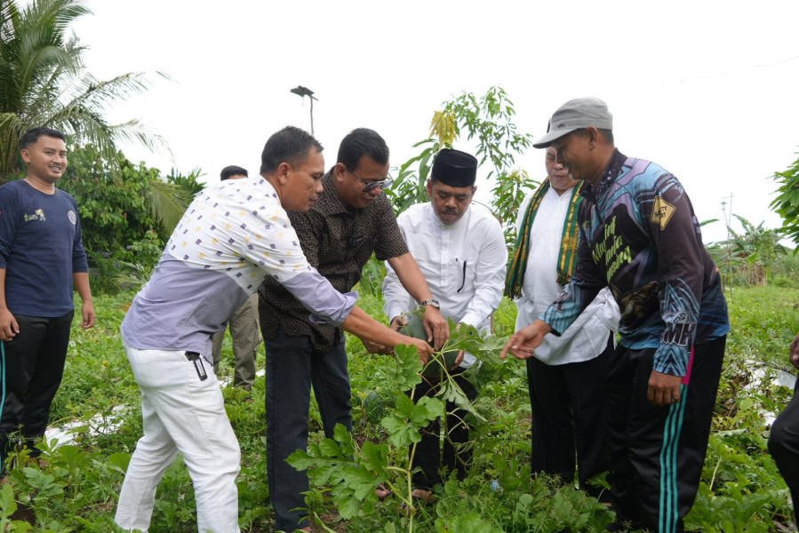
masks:
[[[422,314],[423,310],[417,309],[405,316],[408,322],[403,332],[406,335],[427,338],[421,322]],[[289,464],[295,468],[308,469],[308,477],[313,484],[331,487],[333,504],[342,518],[362,522],[364,528],[372,528],[380,523],[379,498],[375,488],[383,485],[396,497],[396,502],[407,510],[407,530],[413,531],[414,518],[421,511],[420,505],[423,505],[411,496],[411,462],[416,445],[421,440],[419,431],[436,418],[445,418],[446,402],[453,402],[485,421],[452,379],[450,371],[461,350],[481,354],[482,358],[487,351],[498,354],[502,344],[494,339],[487,341],[482,338],[473,326],[461,324],[457,327],[451,320],[450,331],[451,338],[441,350],[433,353],[424,367],[419,362],[415,347],[396,346],[395,365],[389,370],[388,376],[388,382],[393,384],[394,408],[380,420],[380,426],[388,432],[388,442],[366,440],[359,444],[344,426],[337,426],[333,439],[324,439],[318,444],[309,443],[308,451],[297,450],[288,458]],[[497,354],[494,355],[495,360]],[[422,378],[440,382],[435,397],[413,398],[412,387],[418,385]],[[408,390],[411,393],[405,394]],[[446,438],[446,431],[443,436]],[[392,448],[409,449],[409,453],[392,453]],[[391,459],[395,459],[395,462]]]

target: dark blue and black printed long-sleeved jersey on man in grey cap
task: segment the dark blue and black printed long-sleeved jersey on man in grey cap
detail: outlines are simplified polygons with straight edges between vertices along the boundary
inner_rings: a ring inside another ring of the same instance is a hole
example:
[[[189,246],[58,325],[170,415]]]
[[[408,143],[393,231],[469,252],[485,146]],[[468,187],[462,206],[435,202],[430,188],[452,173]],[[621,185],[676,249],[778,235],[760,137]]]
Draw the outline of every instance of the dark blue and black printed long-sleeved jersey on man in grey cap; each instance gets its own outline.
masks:
[[[541,317],[565,330],[603,286],[619,304],[619,343],[656,348],[654,370],[688,372],[694,344],[730,330],[718,268],[702,244],[691,201],[674,175],[618,150],[595,187],[581,191],[577,272]]]

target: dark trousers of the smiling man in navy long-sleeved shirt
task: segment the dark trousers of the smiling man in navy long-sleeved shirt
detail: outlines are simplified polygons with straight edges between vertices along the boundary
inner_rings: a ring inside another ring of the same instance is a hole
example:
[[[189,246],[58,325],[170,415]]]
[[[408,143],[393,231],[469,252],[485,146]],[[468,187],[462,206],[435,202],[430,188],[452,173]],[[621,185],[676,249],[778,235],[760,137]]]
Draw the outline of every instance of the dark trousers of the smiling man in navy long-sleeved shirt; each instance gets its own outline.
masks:
[[[50,404],[64,374],[73,314],[54,318],[15,314],[20,332],[13,340],[0,341],[2,465],[12,449],[10,434],[20,431],[22,444],[30,448],[47,429]],[[39,453],[31,448],[31,456]]]

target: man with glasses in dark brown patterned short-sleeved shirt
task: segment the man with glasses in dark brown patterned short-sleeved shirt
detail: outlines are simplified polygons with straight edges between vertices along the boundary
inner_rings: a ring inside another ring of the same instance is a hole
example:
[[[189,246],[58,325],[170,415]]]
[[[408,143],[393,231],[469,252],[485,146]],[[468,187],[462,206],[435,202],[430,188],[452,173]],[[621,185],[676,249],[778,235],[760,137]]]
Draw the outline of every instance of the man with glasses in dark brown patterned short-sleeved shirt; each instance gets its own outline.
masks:
[[[425,326],[436,347],[449,338],[446,319],[411,257],[383,187],[388,147],[376,131],[359,128],[341,141],[337,163],[322,179],[324,193],[307,213],[290,212],[308,263],[332,286],[352,290],[366,261],[388,260],[405,290],[427,306]],[[267,472],[276,530],[308,529],[302,495],[308,474],[285,462],[308,447],[308,407],[313,385],[324,434],[337,424],[352,431],[352,408],[344,335],[311,322],[308,311],[278,283],[259,289],[260,323],[267,348]],[[369,345],[367,345],[369,346]],[[374,346],[376,348],[376,346]]]

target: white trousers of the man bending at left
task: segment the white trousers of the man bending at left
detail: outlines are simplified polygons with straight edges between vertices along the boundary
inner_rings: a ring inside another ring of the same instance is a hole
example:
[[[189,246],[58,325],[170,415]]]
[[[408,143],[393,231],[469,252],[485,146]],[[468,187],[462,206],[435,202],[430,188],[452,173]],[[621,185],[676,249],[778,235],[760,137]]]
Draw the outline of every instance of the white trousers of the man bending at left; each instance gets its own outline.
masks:
[[[141,388],[144,436],[124,477],[116,523],[147,531],[156,487],[180,451],[194,483],[197,529],[239,533],[236,476],[241,451],[211,365],[204,361],[208,378],[201,381],[184,352],[125,350]]]

